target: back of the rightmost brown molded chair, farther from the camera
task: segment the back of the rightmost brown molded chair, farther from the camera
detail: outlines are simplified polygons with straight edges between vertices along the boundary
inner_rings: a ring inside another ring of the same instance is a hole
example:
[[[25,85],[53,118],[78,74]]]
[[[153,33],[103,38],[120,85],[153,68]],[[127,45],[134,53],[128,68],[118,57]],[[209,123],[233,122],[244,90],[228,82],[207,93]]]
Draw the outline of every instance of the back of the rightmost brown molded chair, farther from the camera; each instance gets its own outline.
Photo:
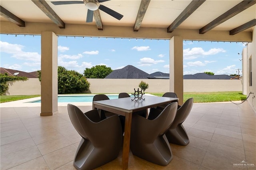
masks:
[[[193,97],[186,100],[185,103],[177,110],[177,114],[172,123],[172,127],[175,127],[178,124],[181,124],[186,120],[186,118],[188,117],[188,115],[192,109],[193,101],[194,101]]]

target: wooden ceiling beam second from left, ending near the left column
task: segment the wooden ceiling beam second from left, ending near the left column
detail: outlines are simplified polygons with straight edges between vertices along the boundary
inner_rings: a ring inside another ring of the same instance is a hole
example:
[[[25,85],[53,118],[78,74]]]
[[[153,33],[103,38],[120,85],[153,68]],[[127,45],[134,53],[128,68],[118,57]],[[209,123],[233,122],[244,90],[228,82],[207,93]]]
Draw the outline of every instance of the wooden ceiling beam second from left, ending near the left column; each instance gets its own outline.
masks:
[[[44,14],[46,14],[59,28],[65,28],[65,23],[54,12],[54,10],[47,4],[45,0],[32,0]]]

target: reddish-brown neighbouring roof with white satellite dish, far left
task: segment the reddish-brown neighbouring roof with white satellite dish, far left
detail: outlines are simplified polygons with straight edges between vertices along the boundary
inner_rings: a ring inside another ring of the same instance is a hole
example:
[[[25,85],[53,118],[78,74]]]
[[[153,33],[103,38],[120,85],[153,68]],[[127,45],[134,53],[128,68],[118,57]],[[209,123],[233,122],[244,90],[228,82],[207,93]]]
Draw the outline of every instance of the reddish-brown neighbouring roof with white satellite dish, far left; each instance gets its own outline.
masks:
[[[6,69],[6,68],[3,68],[3,67],[0,67],[0,73],[1,74],[7,73],[10,76],[38,78],[38,72],[37,71],[27,73],[27,72],[24,72],[24,71]]]

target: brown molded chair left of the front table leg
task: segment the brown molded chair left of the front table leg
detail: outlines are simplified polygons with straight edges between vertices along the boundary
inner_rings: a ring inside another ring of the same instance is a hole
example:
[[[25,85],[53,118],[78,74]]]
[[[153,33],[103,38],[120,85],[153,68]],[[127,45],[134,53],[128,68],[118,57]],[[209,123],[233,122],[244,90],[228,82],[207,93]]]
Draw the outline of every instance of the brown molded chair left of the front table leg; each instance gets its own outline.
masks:
[[[74,158],[76,169],[91,170],[117,158],[122,147],[118,115],[101,120],[96,109],[83,113],[71,104],[68,104],[68,115],[82,136]]]

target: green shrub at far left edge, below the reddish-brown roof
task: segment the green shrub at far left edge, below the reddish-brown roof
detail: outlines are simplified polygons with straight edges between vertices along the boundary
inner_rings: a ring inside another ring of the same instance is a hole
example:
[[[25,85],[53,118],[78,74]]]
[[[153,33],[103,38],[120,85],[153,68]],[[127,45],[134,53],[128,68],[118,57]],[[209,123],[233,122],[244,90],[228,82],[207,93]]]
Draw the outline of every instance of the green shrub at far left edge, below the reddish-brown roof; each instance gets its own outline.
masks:
[[[0,94],[5,95],[6,91],[8,91],[9,87],[7,85],[7,81],[15,81],[15,80],[28,80],[28,77],[22,76],[10,76],[7,73],[0,73]]]

